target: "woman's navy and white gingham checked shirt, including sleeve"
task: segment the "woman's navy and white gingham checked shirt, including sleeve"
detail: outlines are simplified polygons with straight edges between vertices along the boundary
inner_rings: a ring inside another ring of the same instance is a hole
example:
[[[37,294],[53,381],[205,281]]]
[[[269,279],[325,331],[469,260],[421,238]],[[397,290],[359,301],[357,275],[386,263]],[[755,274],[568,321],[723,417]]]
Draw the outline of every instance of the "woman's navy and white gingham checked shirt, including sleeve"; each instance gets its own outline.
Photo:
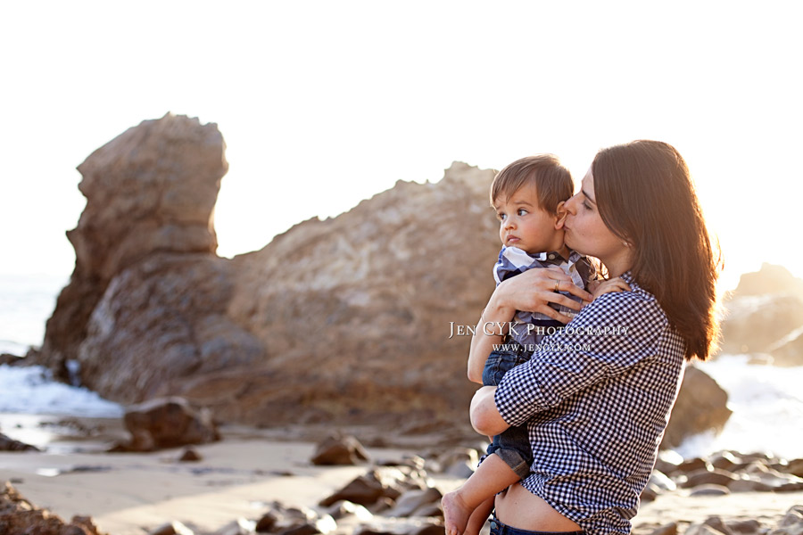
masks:
[[[606,293],[505,374],[496,407],[527,424],[522,481],[585,531],[629,533],[683,379],[683,339],[649,292]]]

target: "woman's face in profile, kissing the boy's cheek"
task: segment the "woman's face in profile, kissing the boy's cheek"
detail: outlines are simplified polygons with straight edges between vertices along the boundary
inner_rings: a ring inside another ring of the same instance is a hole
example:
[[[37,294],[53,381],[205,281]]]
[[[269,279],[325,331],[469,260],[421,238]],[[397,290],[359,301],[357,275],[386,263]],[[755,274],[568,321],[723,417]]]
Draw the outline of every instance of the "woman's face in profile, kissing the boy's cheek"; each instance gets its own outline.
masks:
[[[580,191],[566,202],[567,216],[563,219],[566,244],[581,254],[600,259],[610,276],[620,276],[633,263],[632,248],[605,225],[596,200],[594,177],[588,169]]]

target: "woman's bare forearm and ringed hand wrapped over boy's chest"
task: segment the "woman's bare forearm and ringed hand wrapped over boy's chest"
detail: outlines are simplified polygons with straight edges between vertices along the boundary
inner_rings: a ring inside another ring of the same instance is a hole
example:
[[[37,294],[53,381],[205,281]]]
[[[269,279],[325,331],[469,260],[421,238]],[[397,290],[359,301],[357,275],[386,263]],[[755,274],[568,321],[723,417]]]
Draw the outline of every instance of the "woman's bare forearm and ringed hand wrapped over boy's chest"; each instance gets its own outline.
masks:
[[[502,333],[507,332],[505,326],[513,320],[517,310],[541,312],[561,323],[569,322],[571,318],[552,309],[550,303],[559,303],[574,310],[579,310],[581,305],[556,293],[556,284],[559,284],[561,291],[573,293],[582,300],[592,300],[591,293],[575,286],[571,277],[559,268],[529,269],[496,287],[471,338],[471,348],[468,350],[469,381],[483,383],[485,360],[493,351],[493,344],[501,342]]]

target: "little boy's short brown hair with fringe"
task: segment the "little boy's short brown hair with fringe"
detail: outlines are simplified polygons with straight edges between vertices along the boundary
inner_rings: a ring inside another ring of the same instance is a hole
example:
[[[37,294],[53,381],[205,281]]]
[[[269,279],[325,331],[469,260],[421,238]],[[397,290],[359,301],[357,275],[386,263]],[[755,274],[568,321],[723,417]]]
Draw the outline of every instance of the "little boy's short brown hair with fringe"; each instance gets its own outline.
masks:
[[[575,193],[572,175],[558,157],[554,154],[536,154],[514,161],[493,177],[491,206],[500,197],[509,198],[528,184],[535,186],[538,206],[552,215],[558,213],[561,201],[566,201]]]

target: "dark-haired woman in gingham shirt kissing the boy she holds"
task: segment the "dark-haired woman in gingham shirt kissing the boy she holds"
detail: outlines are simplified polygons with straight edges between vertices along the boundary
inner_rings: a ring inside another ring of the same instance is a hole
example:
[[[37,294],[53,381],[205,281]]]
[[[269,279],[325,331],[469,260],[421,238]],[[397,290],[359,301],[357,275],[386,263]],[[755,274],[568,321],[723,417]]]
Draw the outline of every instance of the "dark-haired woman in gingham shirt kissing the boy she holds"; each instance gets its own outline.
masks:
[[[630,292],[593,300],[499,387],[471,403],[477,432],[526,423],[532,472],[496,498],[492,533],[629,533],[683,361],[708,358],[716,334],[717,266],[689,169],[671,145],[636,141],[598,152],[566,204],[566,243],[597,257]],[[559,317],[548,301],[575,291],[533,269],[497,286],[481,322],[519,310]],[[576,307],[574,307],[576,308]],[[499,337],[478,331],[472,352]]]

